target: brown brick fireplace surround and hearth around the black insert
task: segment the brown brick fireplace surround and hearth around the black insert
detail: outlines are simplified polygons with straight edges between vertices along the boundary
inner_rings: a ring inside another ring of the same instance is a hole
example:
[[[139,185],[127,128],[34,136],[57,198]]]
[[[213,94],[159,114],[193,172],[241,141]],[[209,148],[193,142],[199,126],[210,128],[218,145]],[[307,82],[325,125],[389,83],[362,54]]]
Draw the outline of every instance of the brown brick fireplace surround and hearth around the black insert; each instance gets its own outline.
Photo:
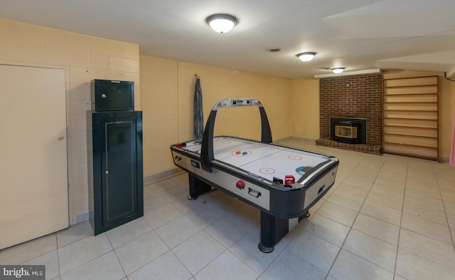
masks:
[[[382,73],[321,78],[319,80],[320,138],[316,145],[381,153]],[[331,139],[331,118],[366,119],[366,143]]]

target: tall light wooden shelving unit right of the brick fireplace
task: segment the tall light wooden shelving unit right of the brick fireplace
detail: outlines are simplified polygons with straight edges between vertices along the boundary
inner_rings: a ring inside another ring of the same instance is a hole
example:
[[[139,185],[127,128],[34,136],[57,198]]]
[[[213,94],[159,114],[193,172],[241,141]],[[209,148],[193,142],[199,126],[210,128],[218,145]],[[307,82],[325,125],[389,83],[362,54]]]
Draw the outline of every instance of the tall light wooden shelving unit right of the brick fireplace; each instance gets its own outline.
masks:
[[[439,160],[438,76],[383,80],[382,151]]]

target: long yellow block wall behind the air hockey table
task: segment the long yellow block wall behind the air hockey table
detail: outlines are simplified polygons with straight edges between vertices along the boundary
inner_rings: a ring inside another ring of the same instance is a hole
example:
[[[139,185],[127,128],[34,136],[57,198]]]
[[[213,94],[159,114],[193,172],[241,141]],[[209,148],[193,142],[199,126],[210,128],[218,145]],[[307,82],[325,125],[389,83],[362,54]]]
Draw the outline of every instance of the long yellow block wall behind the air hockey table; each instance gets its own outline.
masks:
[[[195,75],[203,91],[204,123],[213,105],[228,98],[257,98],[266,110],[274,140],[289,137],[289,80],[194,63],[140,56],[144,110],[144,177],[175,170],[169,146],[193,139]],[[219,110],[215,135],[260,139],[257,107]]]

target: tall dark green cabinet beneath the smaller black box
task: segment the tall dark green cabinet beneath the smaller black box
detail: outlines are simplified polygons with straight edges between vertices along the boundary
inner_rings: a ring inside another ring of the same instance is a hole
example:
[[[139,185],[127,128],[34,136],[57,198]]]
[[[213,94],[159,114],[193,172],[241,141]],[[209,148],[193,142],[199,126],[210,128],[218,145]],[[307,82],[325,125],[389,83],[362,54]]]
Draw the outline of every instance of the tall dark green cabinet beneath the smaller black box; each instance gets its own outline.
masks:
[[[91,112],[95,235],[144,215],[142,112]]]

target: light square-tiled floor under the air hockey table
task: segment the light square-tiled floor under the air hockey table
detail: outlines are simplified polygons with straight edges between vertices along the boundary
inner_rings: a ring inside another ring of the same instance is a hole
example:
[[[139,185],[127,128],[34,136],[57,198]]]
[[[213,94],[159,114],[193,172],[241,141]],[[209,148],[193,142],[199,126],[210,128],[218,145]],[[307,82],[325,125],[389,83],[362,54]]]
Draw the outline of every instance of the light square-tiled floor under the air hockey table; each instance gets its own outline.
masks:
[[[89,222],[0,251],[45,264],[46,279],[455,278],[455,167],[315,146],[340,159],[336,183],[271,254],[259,210],[218,190],[188,201],[187,175],[144,186],[144,217],[94,237]]]

